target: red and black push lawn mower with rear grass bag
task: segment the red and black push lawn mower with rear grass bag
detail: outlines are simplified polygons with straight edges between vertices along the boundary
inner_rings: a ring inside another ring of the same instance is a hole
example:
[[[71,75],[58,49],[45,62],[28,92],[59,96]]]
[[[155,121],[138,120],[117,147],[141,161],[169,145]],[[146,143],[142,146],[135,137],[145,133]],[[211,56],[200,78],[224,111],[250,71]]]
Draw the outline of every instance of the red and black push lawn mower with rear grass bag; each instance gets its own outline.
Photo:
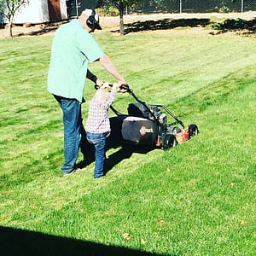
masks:
[[[127,114],[119,113],[113,106],[110,108],[116,116],[111,117],[111,136],[113,141],[135,145],[148,145],[157,148],[172,148],[177,143],[184,143],[198,134],[197,125],[188,127],[177,119],[164,105],[148,105],[139,100],[128,85],[121,85],[121,90],[129,93],[137,101],[130,103]],[[168,123],[168,116],[173,119]]]

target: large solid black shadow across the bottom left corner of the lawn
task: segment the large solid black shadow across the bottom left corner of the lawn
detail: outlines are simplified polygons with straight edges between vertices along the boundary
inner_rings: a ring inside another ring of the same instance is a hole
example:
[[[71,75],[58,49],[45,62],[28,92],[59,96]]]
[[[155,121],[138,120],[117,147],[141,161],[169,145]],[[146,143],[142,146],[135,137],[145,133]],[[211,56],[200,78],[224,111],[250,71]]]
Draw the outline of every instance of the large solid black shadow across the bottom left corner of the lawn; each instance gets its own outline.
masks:
[[[125,247],[114,247],[91,241],[81,241],[61,236],[50,236],[39,232],[0,227],[1,254],[4,256],[125,256],[160,255]]]

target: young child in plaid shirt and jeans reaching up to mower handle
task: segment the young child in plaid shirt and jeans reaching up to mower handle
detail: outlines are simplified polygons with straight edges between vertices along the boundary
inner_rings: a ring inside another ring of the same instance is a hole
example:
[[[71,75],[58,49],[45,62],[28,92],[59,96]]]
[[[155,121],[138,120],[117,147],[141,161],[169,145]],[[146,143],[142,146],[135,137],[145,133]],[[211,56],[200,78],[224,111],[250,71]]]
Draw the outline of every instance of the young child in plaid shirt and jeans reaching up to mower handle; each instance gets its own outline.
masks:
[[[95,146],[95,178],[105,175],[104,162],[106,159],[106,140],[110,134],[108,108],[113,103],[117,90],[118,84],[113,84],[111,92],[108,92],[103,85],[100,89],[96,90],[96,94],[89,104],[89,113],[85,130],[88,142]]]

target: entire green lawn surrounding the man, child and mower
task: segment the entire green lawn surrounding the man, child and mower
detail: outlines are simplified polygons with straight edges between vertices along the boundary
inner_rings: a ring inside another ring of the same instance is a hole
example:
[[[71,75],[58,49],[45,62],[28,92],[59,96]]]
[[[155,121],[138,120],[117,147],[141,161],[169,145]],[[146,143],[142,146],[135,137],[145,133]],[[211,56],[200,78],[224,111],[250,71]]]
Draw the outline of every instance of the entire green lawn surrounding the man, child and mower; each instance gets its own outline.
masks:
[[[166,105],[200,134],[148,154],[111,148],[117,164],[100,180],[94,163],[61,177],[61,109],[46,89],[52,37],[2,39],[0,225],[122,248],[119,255],[255,255],[255,38],[95,38],[139,98]],[[99,63],[90,69],[115,82]],[[93,93],[89,81],[84,121]],[[126,112],[133,101],[119,95],[113,105]],[[106,247],[70,255],[107,255]]]

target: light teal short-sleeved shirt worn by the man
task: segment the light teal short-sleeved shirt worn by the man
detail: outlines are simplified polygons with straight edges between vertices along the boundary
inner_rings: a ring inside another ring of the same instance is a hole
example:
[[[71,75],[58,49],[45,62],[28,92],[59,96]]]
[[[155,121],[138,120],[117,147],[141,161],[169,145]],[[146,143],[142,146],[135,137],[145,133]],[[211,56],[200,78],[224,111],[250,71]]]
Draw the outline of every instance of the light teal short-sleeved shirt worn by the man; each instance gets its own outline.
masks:
[[[101,47],[79,20],[60,26],[51,49],[48,91],[82,102],[88,63],[103,55]]]

